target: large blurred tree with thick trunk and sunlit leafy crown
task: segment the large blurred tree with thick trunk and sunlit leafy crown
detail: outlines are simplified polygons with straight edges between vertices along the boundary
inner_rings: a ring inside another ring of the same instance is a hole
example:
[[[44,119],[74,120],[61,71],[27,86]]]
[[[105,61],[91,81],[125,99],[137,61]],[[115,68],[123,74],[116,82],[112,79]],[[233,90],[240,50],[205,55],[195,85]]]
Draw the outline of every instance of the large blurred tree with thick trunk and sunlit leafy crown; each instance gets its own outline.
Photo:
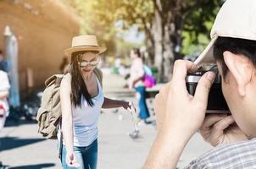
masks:
[[[224,0],[95,0],[91,12],[84,16],[93,15],[92,21],[95,21],[92,24],[95,26],[90,25],[92,31],[108,32],[106,35],[109,35],[109,39],[115,38],[117,30],[114,23],[120,20],[124,30],[138,25],[139,30],[146,35],[147,51],[153,64],[159,69],[160,80],[167,81],[175,59],[181,57],[184,38],[182,33],[190,35],[192,44],[198,43],[199,35],[209,35],[211,23],[223,2]]]

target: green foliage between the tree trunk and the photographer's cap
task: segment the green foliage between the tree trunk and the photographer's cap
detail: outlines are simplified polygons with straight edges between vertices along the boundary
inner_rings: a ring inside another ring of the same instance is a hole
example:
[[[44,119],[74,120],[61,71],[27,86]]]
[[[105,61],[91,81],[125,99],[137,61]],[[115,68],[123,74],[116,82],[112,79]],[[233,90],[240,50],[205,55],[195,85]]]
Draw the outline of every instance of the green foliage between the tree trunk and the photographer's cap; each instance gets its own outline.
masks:
[[[192,1],[191,1],[192,2]],[[182,53],[201,52],[209,42],[209,33],[224,0],[198,0],[184,15]]]

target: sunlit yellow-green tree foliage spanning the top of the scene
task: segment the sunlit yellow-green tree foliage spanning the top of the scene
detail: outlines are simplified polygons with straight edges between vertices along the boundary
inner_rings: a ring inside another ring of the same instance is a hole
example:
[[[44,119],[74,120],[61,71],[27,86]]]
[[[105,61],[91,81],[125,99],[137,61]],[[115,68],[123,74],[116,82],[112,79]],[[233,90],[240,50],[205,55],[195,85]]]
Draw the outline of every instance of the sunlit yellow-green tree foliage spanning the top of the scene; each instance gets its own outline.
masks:
[[[174,17],[181,16],[182,53],[197,52],[209,41],[209,30],[224,0],[64,0],[64,2],[75,8],[77,14],[81,16],[81,33],[97,35],[103,42],[102,45],[108,46],[109,53],[114,54],[115,51],[124,51],[121,46],[125,45],[125,42],[120,41],[116,35],[133,25],[137,25],[139,31],[145,32],[148,38],[154,13],[159,9],[163,18],[167,17],[169,12]],[[157,6],[157,2],[160,2],[161,8]],[[117,28],[115,24],[119,21],[122,24]],[[175,19],[172,22],[175,23]]]

